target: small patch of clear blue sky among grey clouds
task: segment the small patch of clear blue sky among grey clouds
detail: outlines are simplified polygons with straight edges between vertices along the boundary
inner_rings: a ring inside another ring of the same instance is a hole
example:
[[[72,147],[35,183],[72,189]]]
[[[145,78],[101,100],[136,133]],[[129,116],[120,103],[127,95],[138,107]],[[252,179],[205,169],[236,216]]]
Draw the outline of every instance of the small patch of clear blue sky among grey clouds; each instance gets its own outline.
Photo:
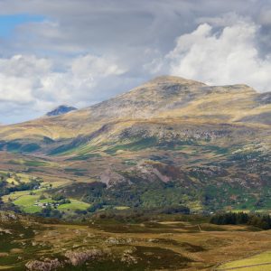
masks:
[[[11,36],[16,26],[23,23],[42,22],[43,20],[43,16],[31,14],[0,15],[0,37]]]

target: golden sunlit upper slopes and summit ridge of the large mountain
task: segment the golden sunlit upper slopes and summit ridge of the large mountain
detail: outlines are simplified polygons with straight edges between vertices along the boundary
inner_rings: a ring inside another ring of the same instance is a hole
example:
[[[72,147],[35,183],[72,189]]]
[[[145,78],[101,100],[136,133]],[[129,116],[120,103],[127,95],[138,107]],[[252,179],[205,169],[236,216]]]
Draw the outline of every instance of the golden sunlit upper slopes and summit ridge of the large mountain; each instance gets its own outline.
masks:
[[[130,91],[68,115],[39,118],[0,127],[3,140],[49,137],[52,140],[90,135],[108,123],[178,119],[192,123],[229,123],[266,126],[271,92],[258,94],[247,85],[208,86],[172,76],[161,76]],[[25,130],[25,127],[28,127]]]

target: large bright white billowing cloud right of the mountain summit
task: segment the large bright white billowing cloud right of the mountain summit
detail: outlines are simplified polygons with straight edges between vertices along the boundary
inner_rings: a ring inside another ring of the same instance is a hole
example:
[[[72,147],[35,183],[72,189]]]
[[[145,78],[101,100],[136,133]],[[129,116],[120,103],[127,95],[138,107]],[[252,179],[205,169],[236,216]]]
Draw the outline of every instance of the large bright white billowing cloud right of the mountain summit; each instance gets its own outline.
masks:
[[[256,23],[240,18],[236,23],[230,20],[220,31],[201,23],[192,33],[181,35],[159,62],[172,75],[211,85],[246,83],[259,91],[270,91],[271,55],[260,55],[258,32]]]

